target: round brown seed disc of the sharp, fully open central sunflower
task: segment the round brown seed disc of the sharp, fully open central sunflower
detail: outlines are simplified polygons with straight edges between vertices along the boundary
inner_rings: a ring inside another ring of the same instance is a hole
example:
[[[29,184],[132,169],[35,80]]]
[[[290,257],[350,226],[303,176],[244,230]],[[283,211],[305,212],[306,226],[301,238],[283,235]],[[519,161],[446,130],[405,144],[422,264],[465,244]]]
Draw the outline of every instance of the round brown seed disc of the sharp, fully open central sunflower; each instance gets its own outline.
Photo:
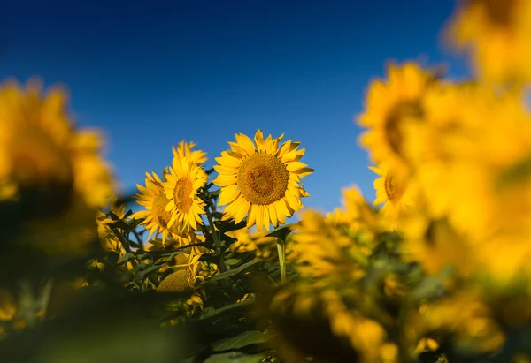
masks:
[[[267,205],[284,197],[289,171],[273,155],[256,153],[245,159],[238,171],[237,184],[253,204]]]

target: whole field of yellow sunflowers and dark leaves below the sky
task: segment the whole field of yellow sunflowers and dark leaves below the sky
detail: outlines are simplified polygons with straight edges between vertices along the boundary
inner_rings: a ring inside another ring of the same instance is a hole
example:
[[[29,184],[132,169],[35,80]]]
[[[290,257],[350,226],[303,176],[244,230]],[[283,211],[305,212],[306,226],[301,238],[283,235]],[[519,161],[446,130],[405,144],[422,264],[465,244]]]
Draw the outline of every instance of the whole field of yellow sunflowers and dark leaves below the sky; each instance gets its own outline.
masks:
[[[327,215],[304,145],[261,129],[212,170],[182,140],[116,195],[65,91],[5,80],[0,361],[531,362],[531,2],[462,1],[443,30],[473,77],[373,79],[375,198]]]

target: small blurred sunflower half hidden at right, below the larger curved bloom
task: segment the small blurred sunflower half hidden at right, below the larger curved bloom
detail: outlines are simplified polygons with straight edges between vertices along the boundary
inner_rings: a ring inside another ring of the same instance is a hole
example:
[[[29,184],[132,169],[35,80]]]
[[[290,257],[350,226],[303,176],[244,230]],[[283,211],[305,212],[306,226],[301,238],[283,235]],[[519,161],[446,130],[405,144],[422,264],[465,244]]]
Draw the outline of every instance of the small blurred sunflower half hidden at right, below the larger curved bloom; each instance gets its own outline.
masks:
[[[396,228],[400,214],[414,205],[412,179],[383,163],[377,167],[370,166],[369,169],[381,176],[373,183],[376,190],[373,204],[376,206],[383,204],[381,213],[388,219],[391,227]]]

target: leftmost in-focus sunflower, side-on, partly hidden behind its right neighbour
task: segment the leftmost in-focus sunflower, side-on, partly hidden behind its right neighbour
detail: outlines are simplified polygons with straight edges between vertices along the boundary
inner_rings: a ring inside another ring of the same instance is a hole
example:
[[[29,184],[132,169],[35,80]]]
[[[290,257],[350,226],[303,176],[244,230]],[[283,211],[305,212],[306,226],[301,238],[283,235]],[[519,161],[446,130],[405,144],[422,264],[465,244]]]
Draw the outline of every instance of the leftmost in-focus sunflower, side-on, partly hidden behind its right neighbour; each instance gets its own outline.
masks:
[[[155,171],[153,171],[153,175],[146,172],[146,186],[136,185],[141,193],[135,194],[136,202],[144,207],[145,210],[137,211],[131,216],[131,218],[145,217],[142,225],[147,230],[150,230],[147,240],[152,237],[157,238],[162,233],[163,246],[168,236],[173,237],[173,233],[177,232],[175,228],[170,229],[168,227],[172,215],[165,210],[170,202],[165,196],[163,186],[166,181],[166,175],[166,170],[163,170],[162,178],[159,178]]]

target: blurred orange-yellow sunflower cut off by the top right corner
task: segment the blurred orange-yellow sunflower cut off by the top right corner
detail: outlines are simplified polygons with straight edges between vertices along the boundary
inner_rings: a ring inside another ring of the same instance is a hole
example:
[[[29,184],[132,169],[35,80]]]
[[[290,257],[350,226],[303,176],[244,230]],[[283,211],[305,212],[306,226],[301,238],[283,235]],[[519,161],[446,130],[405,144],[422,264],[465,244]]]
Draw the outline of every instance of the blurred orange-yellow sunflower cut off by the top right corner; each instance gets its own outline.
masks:
[[[468,49],[473,68],[489,81],[531,79],[531,4],[527,0],[461,0],[447,41]]]

